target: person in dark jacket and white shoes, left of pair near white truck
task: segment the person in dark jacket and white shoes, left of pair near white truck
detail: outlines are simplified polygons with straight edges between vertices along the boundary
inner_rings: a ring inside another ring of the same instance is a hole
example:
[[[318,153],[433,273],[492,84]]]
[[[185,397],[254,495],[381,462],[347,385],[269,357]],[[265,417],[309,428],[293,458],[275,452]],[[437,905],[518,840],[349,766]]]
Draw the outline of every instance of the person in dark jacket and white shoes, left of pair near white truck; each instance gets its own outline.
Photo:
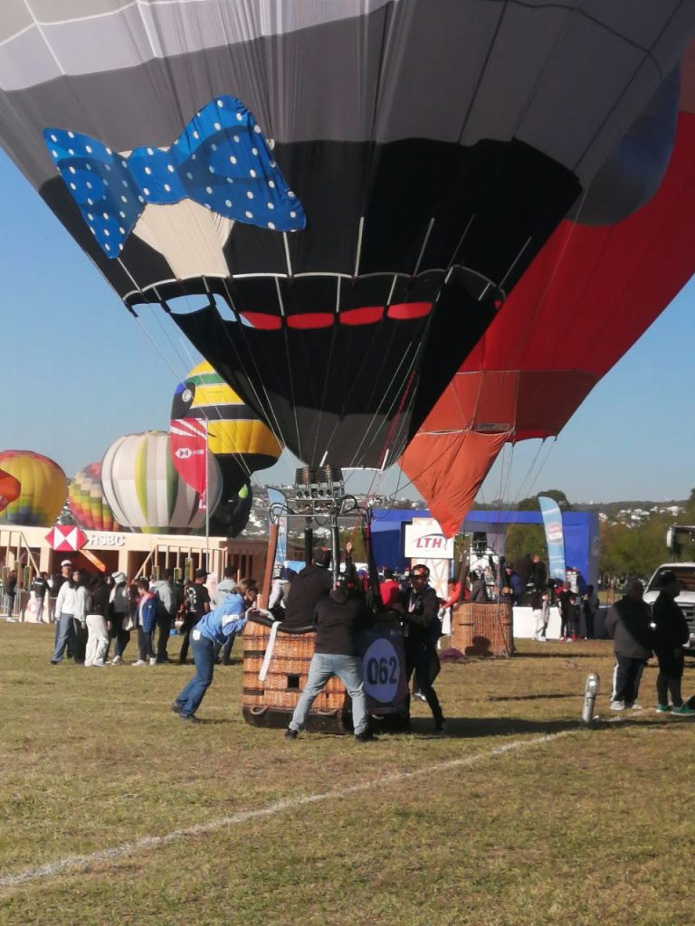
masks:
[[[639,709],[639,681],[651,657],[651,614],[642,601],[643,592],[644,586],[637,579],[628,582],[625,596],[613,605],[605,620],[615,654],[611,710]]]

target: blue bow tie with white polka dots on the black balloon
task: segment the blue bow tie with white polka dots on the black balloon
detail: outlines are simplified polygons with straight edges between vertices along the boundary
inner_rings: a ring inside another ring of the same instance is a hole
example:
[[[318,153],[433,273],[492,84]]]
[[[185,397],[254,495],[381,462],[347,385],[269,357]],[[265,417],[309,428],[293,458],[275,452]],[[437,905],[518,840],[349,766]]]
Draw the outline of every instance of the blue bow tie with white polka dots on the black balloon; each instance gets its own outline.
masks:
[[[171,148],[113,152],[89,135],[44,129],[44,142],[107,257],[119,257],[147,203],[191,199],[226,219],[278,232],[307,224],[251,113],[219,96]]]

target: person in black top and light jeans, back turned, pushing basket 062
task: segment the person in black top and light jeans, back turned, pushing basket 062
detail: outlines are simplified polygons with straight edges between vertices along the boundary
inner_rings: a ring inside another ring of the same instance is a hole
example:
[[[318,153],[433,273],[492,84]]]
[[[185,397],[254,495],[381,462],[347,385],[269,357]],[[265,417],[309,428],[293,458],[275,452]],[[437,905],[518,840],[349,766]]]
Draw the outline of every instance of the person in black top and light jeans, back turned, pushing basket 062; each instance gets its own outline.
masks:
[[[347,544],[347,557],[350,551],[351,544]],[[337,676],[345,685],[352,701],[355,741],[366,743],[373,740],[375,737],[369,730],[367,697],[364,694],[362,660],[358,648],[360,630],[368,623],[370,614],[351,563],[335,589],[316,602],[314,613],[316,642],[307,684],[297,701],[297,707],[284,735],[288,740],[297,739],[299,732],[304,729],[317,695],[334,676]]]

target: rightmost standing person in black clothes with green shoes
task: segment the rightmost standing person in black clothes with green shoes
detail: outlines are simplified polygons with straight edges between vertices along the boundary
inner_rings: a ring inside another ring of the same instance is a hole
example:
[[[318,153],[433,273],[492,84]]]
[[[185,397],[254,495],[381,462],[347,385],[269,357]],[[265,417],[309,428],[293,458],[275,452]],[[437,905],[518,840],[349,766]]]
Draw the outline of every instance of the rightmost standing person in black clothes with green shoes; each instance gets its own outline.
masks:
[[[680,694],[683,678],[683,644],[688,643],[690,632],[681,609],[676,605],[680,583],[676,573],[670,569],[662,573],[661,592],[651,608],[651,629],[654,632],[654,653],[659,662],[656,677],[656,694],[661,713],[695,714],[695,710],[683,704]],[[671,695],[671,704],[668,695]]]

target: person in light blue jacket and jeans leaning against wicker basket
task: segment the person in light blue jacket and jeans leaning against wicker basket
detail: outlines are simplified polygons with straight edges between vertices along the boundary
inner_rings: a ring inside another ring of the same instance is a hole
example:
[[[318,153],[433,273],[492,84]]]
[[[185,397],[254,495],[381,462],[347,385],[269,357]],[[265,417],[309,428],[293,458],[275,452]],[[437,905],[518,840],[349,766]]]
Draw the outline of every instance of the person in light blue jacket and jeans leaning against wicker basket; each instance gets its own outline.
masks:
[[[199,578],[198,572],[202,572],[203,579],[206,576],[205,569],[198,569],[196,582]],[[196,711],[212,682],[216,661],[215,650],[218,646],[223,646],[227,637],[232,633],[236,634],[244,630],[246,610],[253,606],[257,594],[258,587],[255,580],[242,579],[234,585],[234,590],[225,597],[221,605],[212,611],[206,611],[196,622],[196,626],[191,631],[196,674],[171,704],[171,710],[174,714],[178,714],[181,720],[189,723],[199,722],[196,718]]]

